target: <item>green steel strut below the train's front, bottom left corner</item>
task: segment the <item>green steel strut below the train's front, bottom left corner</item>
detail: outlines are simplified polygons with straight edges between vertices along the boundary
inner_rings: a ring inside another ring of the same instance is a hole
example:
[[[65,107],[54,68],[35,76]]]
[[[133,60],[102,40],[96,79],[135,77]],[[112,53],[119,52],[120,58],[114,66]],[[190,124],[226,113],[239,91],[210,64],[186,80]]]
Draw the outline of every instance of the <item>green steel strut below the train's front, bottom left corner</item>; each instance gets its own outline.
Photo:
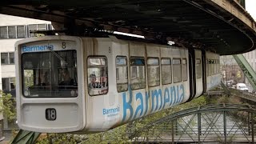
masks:
[[[27,131],[27,130],[19,130],[18,134],[11,142],[12,144],[33,144],[38,139],[41,133]]]

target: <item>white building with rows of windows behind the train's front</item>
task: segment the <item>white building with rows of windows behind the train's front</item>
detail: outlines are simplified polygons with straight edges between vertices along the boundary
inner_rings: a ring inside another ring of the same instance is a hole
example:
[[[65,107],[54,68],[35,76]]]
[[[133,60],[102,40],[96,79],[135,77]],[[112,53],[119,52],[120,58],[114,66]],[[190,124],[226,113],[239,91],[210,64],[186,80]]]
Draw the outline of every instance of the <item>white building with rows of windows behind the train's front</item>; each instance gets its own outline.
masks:
[[[15,98],[14,44],[22,38],[34,37],[34,31],[52,30],[51,22],[0,14],[0,88]],[[11,129],[11,122],[0,114],[0,129]],[[1,132],[0,132],[1,134]],[[0,135],[0,138],[2,136]]]

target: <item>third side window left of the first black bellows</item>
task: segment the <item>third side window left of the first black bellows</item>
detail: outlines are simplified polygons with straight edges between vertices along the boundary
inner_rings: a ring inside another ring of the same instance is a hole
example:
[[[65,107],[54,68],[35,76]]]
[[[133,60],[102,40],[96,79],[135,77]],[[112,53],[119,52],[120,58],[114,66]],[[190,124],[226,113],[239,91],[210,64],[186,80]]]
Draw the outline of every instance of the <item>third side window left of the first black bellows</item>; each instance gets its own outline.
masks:
[[[161,75],[162,75],[162,85],[171,83],[171,62],[170,58],[162,58],[161,60]]]

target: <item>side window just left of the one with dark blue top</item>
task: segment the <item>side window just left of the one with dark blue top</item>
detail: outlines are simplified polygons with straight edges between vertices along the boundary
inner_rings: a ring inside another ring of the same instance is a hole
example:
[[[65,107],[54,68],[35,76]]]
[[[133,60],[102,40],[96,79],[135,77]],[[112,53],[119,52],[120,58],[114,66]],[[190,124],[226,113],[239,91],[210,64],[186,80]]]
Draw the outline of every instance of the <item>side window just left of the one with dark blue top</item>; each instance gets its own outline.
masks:
[[[116,78],[118,93],[128,90],[128,69],[126,57],[118,56],[116,62]]]

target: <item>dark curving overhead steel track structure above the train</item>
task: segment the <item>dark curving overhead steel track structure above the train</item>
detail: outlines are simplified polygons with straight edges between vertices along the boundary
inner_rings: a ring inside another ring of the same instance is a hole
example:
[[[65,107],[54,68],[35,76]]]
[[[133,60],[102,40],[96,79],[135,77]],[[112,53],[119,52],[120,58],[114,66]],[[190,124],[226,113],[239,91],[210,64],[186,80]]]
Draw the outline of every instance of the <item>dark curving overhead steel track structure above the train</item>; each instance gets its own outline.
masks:
[[[8,4],[20,5],[2,5],[1,14],[62,23],[60,27],[69,32],[79,26],[116,30],[224,55],[256,48],[254,19],[236,1],[8,0]]]

